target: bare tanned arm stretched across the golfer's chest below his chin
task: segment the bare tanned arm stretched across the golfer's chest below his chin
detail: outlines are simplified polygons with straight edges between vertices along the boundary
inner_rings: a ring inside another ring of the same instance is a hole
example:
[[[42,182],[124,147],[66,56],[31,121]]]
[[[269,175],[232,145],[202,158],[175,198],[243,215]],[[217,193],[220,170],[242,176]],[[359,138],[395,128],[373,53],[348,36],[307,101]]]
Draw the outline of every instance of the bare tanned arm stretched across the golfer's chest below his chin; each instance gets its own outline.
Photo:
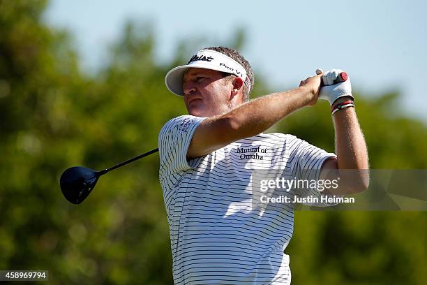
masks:
[[[223,115],[205,119],[193,135],[188,158],[209,154],[236,140],[256,136],[291,112],[315,104],[321,75],[308,78],[297,89],[262,96]]]

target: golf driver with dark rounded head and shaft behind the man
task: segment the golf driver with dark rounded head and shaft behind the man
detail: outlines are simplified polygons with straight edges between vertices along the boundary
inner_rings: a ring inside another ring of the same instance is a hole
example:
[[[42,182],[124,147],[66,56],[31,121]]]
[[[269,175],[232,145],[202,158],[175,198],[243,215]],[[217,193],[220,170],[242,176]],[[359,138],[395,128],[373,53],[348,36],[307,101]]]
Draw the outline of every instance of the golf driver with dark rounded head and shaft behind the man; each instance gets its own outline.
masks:
[[[127,161],[123,161],[116,166],[112,166],[100,171],[82,166],[70,167],[62,173],[61,178],[59,179],[59,186],[61,187],[63,196],[70,203],[80,204],[84,199],[87,198],[87,196],[89,196],[101,175],[109,173],[111,170],[124,166],[138,159],[142,159],[143,157],[155,152],[158,152],[158,148],[152,149],[149,152],[135,156],[133,159],[128,159]]]

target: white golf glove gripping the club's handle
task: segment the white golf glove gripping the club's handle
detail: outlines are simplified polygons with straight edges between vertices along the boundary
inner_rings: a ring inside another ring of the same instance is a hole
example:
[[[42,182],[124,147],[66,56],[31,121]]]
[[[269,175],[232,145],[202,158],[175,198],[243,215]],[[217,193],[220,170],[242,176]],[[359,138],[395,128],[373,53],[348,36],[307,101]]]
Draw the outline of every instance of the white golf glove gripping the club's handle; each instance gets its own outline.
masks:
[[[332,105],[336,99],[343,96],[350,96],[354,99],[352,95],[352,84],[350,82],[350,76],[344,82],[339,82],[334,84],[340,73],[343,71],[340,69],[331,69],[327,71],[322,76],[322,82],[324,86],[320,88],[319,98],[329,101]],[[322,69],[318,68],[316,74],[322,73]]]

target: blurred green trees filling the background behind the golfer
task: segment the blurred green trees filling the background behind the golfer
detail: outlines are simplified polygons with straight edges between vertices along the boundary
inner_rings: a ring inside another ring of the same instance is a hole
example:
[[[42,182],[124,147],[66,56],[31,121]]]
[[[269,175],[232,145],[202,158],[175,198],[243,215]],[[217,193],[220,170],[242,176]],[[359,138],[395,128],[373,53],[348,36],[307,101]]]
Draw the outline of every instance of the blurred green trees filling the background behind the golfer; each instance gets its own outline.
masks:
[[[157,146],[186,113],[156,64],[149,25],[130,22],[110,61],[84,73],[66,31],[43,24],[47,1],[0,1],[0,269],[50,271],[51,284],[172,284],[158,155],[115,170],[82,205],[61,195],[69,166],[112,166]],[[242,47],[244,31],[236,31]],[[357,87],[355,87],[357,91]],[[254,96],[269,88],[257,76]],[[398,92],[357,94],[372,168],[426,168],[427,127]],[[304,108],[271,131],[334,151],[329,106]],[[425,212],[297,212],[287,248],[293,284],[425,284]]]

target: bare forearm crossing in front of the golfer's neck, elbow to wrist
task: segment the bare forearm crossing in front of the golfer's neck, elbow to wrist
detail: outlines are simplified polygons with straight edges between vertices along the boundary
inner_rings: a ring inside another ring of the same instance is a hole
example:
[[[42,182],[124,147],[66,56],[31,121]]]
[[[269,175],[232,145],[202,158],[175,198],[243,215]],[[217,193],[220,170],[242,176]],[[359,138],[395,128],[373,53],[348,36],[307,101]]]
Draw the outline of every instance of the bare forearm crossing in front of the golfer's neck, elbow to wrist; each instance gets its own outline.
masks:
[[[230,120],[236,138],[247,138],[262,133],[291,112],[308,105],[312,97],[310,89],[299,87],[256,98],[221,117]]]

